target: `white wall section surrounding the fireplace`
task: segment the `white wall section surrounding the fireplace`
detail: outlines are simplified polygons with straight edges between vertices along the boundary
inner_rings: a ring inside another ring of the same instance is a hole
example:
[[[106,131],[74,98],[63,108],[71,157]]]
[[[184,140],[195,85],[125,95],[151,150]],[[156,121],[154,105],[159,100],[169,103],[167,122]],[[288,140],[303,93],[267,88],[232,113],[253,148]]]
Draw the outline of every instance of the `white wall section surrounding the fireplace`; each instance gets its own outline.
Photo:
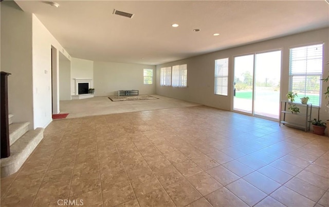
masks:
[[[94,61],[87,59],[71,58],[71,95],[75,95],[74,78],[93,79],[92,87],[94,88]],[[78,93],[77,93],[78,94]]]

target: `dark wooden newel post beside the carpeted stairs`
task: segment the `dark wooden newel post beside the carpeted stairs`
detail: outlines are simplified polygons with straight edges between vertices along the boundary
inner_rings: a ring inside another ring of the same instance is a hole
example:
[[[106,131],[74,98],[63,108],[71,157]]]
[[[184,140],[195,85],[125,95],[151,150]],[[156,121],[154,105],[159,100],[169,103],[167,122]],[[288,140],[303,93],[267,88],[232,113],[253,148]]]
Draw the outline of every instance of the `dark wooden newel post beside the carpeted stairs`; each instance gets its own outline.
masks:
[[[8,120],[8,75],[10,73],[1,71],[0,89],[0,123],[1,123],[1,158],[10,156],[9,143],[9,120]]]

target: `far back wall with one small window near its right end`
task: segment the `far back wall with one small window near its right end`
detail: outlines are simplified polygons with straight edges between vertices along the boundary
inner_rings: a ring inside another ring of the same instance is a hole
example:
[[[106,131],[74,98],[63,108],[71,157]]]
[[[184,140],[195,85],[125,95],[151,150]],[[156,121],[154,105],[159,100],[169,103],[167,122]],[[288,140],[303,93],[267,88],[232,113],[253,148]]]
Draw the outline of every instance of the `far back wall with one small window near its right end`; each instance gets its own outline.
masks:
[[[143,69],[153,69],[153,84],[144,85]],[[94,62],[95,96],[117,95],[118,90],[139,90],[139,94],[155,93],[155,66]]]

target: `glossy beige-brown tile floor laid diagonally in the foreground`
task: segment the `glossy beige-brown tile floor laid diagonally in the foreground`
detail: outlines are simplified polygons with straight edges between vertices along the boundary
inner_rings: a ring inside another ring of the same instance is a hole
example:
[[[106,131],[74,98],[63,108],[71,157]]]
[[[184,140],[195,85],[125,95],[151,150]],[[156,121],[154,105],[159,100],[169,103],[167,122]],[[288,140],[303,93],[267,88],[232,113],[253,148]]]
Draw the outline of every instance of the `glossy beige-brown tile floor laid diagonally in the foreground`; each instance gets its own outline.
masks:
[[[204,106],[55,120],[1,179],[1,206],[329,206],[328,150],[326,136]]]

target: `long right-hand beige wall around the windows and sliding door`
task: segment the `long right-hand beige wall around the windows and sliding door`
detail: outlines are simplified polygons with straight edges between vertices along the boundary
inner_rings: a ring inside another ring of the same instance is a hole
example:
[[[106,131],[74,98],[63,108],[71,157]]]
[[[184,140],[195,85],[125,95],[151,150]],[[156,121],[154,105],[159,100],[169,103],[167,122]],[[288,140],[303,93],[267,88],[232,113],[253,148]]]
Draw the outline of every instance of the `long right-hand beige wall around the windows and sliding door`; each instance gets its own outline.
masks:
[[[231,48],[227,50],[217,51],[205,55],[174,61],[156,66],[156,93],[169,97],[184,99],[206,106],[211,106],[224,110],[231,110],[232,94],[233,94],[233,56],[262,52],[269,50],[282,49],[282,72],[281,72],[281,99],[285,100],[288,92],[289,84],[289,48],[303,46],[305,44],[317,44],[324,42],[324,63],[328,61],[328,44],[329,29],[320,29],[290,35],[282,38],[267,40],[261,43],[250,44],[242,47]],[[229,95],[221,96],[214,94],[214,61],[220,58],[229,58]],[[160,68],[174,65],[187,64],[188,67],[188,88],[173,88],[160,86]],[[328,66],[324,66],[323,77],[328,75]],[[326,89],[328,83],[324,83],[322,89]],[[328,119],[328,113],[324,111],[327,100],[321,102],[321,119]],[[313,110],[313,116],[317,116],[317,109]]]

